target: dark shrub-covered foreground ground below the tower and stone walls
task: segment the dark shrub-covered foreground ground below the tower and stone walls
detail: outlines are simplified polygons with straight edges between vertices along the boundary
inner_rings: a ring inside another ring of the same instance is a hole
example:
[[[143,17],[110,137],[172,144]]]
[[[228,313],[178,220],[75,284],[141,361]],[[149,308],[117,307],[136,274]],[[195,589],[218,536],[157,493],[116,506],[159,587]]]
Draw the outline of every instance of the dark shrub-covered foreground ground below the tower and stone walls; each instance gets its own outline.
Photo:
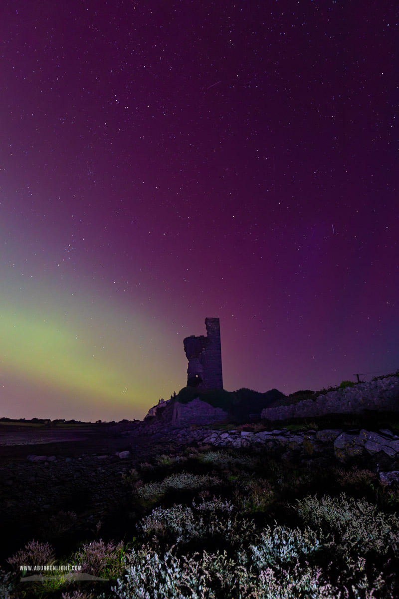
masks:
[[[398,415],[379,418],[374,430],[391,426],[397,443]],[[399,485],[380,478],[399,471],[395,456],[342,463],[332,443],[291,455],[148,423],[10,428],[0,429],[0,599],[399,597]],[[53,560],[32,544],[16,555],[33,540],[99,578],[20,580],[18,564]]]

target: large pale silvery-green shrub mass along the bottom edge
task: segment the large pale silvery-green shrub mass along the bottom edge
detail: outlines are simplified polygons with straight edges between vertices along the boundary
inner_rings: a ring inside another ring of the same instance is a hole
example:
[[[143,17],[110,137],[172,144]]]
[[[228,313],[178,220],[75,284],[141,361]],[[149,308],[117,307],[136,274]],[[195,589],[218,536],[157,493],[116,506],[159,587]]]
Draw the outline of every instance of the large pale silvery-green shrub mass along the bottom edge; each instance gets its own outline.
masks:
[[[112,591],[120,599],[374,599],[384,589],[361,560],[342,568],[334,584],[328,571],[308,562],[258,570],[249,559],[245,552],[229,558],[206,551],[178,558],[173,548],[159,554],[147,546],[130,553],[124,579]],[[377,597],[393,596],[385,590]]]

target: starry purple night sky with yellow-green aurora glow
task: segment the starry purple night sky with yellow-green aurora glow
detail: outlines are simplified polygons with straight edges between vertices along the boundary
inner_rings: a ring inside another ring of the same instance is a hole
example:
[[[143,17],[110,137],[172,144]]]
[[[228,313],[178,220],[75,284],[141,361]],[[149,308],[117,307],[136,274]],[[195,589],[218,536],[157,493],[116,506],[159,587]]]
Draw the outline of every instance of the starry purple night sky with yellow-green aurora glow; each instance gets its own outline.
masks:
[[[0,416],[399,367],[394,5],[2,4]]]

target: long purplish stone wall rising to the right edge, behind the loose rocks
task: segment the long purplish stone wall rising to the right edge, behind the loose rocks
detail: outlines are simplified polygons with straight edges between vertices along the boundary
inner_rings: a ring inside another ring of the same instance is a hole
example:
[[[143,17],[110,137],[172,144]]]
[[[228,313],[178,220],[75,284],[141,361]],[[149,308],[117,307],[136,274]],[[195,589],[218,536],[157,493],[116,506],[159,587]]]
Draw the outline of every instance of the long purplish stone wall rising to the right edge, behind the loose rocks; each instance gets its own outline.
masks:
[[[399,377],[391,376],[318,395],[315,400],[262,410],[263,420],[312,418],[326,414],[362,414],[366,410],[399,411]]]

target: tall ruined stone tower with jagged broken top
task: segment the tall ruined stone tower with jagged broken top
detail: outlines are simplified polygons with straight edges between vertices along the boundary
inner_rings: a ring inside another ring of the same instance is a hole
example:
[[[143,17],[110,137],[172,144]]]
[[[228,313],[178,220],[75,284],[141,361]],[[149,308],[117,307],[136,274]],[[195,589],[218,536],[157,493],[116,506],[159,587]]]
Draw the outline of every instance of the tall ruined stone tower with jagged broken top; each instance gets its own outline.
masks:
[[[183,341],[188,359],[187,385],[200,389],[223,389],[220,322],[206,318],[206,337],[190,335]]]

